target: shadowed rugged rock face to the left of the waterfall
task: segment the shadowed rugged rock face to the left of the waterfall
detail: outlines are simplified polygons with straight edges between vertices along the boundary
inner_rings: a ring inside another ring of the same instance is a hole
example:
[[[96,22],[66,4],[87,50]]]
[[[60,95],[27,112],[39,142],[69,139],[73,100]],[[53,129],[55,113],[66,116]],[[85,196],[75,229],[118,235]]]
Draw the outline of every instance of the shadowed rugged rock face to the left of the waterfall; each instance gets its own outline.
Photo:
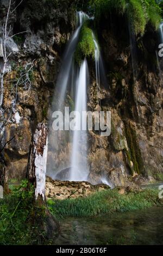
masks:
[[[10,35],[27,32],[7,43],[7,52],[12,54],[5,76],[3,108],[12,111],[3,129],[3,144],[11,139],[5,146],[9,179],[25,178],[32,135],[37,124],[47,120],[62,51],[76,25],[74,2],[23,1],[10,15]],[[8,4],[8,0],[0,3],[0,42]],[[28,66],[32,67],[29,77],[25,74]]]

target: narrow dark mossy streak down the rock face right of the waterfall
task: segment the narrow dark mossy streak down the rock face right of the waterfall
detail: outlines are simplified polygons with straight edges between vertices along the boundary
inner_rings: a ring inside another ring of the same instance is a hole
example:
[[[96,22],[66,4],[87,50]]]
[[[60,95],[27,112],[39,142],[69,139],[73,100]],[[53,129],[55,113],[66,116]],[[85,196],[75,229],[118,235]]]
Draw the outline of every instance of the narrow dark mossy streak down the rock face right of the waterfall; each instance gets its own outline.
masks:
[[[126,138],[130,152],[130,160],[134,164],[134,170],[137,174],[144,174],[144,165],[141,156],[139,144],[137,142],[136,131],[130,122],[125,123]]]

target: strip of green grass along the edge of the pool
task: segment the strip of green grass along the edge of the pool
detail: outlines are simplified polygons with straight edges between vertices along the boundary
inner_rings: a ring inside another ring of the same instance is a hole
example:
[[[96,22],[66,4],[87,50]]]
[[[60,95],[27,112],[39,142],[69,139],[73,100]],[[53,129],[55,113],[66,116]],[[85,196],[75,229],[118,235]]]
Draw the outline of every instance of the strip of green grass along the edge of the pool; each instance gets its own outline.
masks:
[[[126,212],[163,205],[158,191],[145,190],[119,194],[117,189],[96,192],[89,197],[65,200],[49,200],[48,206],[57,218],[91,217],[113,212]]]

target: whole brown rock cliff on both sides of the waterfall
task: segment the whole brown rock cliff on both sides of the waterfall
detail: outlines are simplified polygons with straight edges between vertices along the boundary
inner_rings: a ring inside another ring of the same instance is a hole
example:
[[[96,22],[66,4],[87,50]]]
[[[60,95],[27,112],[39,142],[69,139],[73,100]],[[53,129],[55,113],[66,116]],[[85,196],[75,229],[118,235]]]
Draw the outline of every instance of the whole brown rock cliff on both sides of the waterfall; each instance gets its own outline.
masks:
[[[8,1],[1,1],[0,31],[7,4]],[[75,7],[75,0],[54,3],[28,0],[23,1],[10,19],[11,34],[28,32],[13,38],[8,45],[12,56],[8,63],[10,72],[5,76],[3,108],[14,107],[3,130],[3,140],[12,138],[5,147],[9,178],[24,178],[32,135],[36,125],[47,120],[62,54],[76,23]],[[139,38],[134,78],[126,20],[114,15],[109,21],[103,17],[100,29],[97,28],[106,73],[106,79],[101,79],[101,88],[96,84],[95,64],[92,59],[87,59],[90,69],[87,108],[89,111],[111,112],[109,137],[89,131],[88,179],[92,184],[103,180],[111,187],[151,182],[163,176],[163,76],[151,60],[151,56],[155,58],[158,39],[149,28],[145,36]],[[150,38],[155,45],[151,44]],[[18,83],[15,94],[17,79],[28,65],[32,65],[30,81],[24,76],[26,79]],[[161,60],[161,70],[162,66]],[[55,138],[49,138],[49,144],[52,139]],[[52,172],[63,160],[63,171],[70,168],[71,145],[66,136],[64,141],[65,144],[58,144],[48,155],[48,163],[54,163]],[[56,149],[59,155],[55,153]]]

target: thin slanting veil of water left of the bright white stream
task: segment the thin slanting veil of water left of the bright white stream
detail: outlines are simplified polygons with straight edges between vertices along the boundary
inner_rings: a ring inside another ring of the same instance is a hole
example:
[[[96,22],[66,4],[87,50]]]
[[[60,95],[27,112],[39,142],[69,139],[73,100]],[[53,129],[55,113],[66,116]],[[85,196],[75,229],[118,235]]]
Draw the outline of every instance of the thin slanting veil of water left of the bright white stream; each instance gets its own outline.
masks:
[[[76,95],[76,84],[79,76],[79,69],[74,63],[74,52],[76,50],[80,29],[84,21],[86,21],[89,16],[83,11],[79,11],[77,13],[77,21],[78,26],[72,38],[66,48],[64,59],[61,66],[61,71],[58,77],[57,86],[55,88],[55,95],[53,97],[52,108],[49,111],[49,146],[48,146],[48,161],[47,161],[47,173],[52,176],[52,178],[56,178],[62,170],[68,169],[71,167],[71,155],[68,148],[71,148],[72,143],[72,132],[70,131],[54,131],[52,129],[52,114],[54,111],[64,112],[65,106],[70,106],[70,102],[67,103],[68,100],[75,103],[75,95]],[[69,95],[67,91],[71,92]],[[73,105],[73,104],[72,104]],[[67,148],[65,145],[65,141],[67,143]],[[65,151],[64,151],[65,150]],[[64,159],[61,158],[61,155],[65,154],[66,157]],[[58,179],[70,179],[70,172],[67,171],[66,175],[59,175]]]

